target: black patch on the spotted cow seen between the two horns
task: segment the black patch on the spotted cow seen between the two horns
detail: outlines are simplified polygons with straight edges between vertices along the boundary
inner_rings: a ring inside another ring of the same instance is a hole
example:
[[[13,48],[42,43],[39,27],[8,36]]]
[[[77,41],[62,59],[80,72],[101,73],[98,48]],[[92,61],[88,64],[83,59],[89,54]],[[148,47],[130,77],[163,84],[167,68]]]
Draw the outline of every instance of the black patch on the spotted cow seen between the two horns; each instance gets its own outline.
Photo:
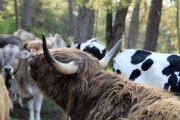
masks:
[[[99,60],[101,60],[104,56],[105,56],[105,53],[106,53],[106,49],[102,50],[102,54],[101,52],[99,51],[99,49],[95,46],[93,47],[90,47],[90,46],[86,46],[83,51],[87,52],[87,53],[90,53],[92,56],[98,58]]]

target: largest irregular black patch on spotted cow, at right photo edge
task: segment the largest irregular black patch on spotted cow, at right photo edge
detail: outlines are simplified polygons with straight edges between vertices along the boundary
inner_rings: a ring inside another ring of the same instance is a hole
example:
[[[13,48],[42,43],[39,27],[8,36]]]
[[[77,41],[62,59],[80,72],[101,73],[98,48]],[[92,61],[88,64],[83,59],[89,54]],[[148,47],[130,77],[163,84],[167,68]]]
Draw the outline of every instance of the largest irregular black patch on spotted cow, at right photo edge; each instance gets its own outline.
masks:
[[[166,76],[169,76],[168,83],[165,83],[164,88],[168,89],[171,86],[170,91],[172,92],[180,92],[180,83],[178,82],[178,78],[175,72],[180,72],[180,57],[177,55],[170,55],[167,58],[169,62],[169,66],[162,70],[162,73]],[[179,74],[178,74],[179,75]]]

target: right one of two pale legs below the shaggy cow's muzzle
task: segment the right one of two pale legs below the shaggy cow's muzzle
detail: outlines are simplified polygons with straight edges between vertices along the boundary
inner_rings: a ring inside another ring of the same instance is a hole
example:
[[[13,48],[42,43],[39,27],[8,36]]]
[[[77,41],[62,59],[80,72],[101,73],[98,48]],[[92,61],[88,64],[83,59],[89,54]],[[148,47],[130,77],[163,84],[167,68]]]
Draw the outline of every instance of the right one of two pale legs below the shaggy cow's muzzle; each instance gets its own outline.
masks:
[[[34,100],[34,112],[35,112],[35,120],[40,120],[40,111],[41,105],[43,101],[43,95],[39,93],[36,97],[33,97]]]

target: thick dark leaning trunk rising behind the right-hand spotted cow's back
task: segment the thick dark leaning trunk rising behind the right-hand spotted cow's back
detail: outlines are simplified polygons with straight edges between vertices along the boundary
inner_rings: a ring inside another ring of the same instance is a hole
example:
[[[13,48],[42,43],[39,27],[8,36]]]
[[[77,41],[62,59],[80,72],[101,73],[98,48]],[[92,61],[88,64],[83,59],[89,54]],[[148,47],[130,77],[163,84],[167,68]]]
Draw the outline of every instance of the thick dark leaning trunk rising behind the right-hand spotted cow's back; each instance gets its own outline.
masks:
[[[161,19],[162,0],[152,0],[146,28],[145,50],[156,51]]]

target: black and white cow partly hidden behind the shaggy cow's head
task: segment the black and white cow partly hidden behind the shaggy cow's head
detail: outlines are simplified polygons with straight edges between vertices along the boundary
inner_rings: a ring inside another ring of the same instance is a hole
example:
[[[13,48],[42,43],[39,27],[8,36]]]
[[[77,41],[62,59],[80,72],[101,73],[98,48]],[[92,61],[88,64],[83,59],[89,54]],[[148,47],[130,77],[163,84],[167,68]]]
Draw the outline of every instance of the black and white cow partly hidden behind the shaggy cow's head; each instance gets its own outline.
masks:
[[[71,44],[71,48],[77,48],[90,53],[99,60],[102,59],[106,54],[105,46],[103,46],[96,38],[92,38],[81,44],[74,42]]]

